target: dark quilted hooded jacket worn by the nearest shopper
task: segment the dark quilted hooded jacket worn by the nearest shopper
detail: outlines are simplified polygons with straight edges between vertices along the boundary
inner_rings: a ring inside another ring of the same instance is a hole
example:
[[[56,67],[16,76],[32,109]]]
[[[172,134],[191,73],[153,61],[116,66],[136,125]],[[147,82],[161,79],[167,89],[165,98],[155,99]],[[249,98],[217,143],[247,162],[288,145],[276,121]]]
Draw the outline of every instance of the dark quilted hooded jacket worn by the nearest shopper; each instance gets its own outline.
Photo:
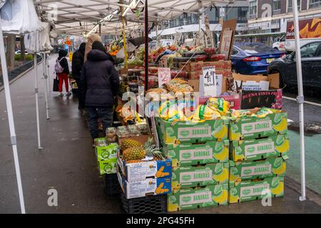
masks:
[[[108,107],[114,104],[119,90],[119,77],[113,58],[108,53],[92,50],[81,70],[81,92],[86,106]]]

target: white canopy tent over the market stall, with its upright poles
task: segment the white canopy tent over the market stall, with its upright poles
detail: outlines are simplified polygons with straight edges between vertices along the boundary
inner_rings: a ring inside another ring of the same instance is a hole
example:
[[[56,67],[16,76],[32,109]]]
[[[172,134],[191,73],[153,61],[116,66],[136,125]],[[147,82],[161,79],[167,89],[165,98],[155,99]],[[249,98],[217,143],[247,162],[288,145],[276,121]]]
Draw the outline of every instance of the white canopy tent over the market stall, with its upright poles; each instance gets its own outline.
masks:
[[[133,1],[137,3],[137,0],[124,1],[124,4],[119,4],[118,0],[34,0],[36,11],[41,17],[42,21],[52,21],[56,25],[57,33],[68,33],[70,35],[83,35],[89,33],[93,28],[97,27],[97,24],[101,23],[101,33],[106,34],[120,34],[121,33],[121,20],[118,16],[112,16],[110,20],[106,21],[106,17],[113,14],[115,11],[123,6],[124,9],[131,8]],[[235,0],[237,1],[237,0]],[[228,0],[149,0],[148,1],[148,18],[151,23],[156,21],[170,20],[183,13],[190,13],[199,15],[204,12],[204,7],[213,5],[215,3],[230,4]],[[300,38],[298,31],[298,18],[297,18],[297,1],[292,0],[294,9],[294,21],[295,21],[295,41],[297,46],[297,77],[299,87],[298,102],[300,103],[300,141],[301,141],[301,175],[302,175],[302,195],[300,200],[305,200],[305,147],[304,147],[304,119],[303,119],[303,90],[302,90],[302,72],[300,65]],[[143,7],[144,1],[138,2],[138,6]],[[133,7],[135,8],[135,7]],[[117,15],[117,14],[116,14]],[[144,15],[134,14],[131,10],[126,14],[126,31],[136,29],[140,24],[144,24]],[[103,22],[101,22],[103,21]],[[0,25],[1,27],[2,25]],[[14,151],[14,162],[16,167],[16,177],[19,189],[19,199],[21,204],[21,213],[25,213],[24,208],[24,196],[22,192],[21,177],[19,170],[18,152],[16,149],[16,133],[14,129],[14,117],[12,113],[11,96],[9,88],[9,78],[6,68],[6,58],[4,53],[4,40],[2,36],[2,29],[0,28],[0,56],[1,65],[3,69],[4,78],[4,90],[6,94],[6,105],[9,116],[9,126],[11,133],[11,144]],[[36,55],[35,55],[36,57]],[[46,64],[46,58],[44,61]],[[36,71],[36,58],[35,58],[35,71]],[[45,76],[45,79],[48,76]],[[37,93],[37,73],[35,75],[35,92],[36,103],[38,103]],[[46,96],[47,97],[47,96]],[[46,108],[48,109],[48,101],[46,102]],[[37,118],[39,119],[39,113],[37,109]],[[47,118],[49,115],[47,114]],[[40,145],[40,133],[39,125],[38,137],[39,148]]]

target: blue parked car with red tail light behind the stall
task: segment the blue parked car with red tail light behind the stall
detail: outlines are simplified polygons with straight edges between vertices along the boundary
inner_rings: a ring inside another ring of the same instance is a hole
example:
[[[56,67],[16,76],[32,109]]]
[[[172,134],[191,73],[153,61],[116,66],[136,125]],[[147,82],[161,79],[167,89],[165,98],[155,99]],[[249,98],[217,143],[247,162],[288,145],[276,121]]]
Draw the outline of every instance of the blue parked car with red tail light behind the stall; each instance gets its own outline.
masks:
[[[263,43],[235,43],[231,61],[233,71],[242,74],[265,74],[267,66],[285,53]]]

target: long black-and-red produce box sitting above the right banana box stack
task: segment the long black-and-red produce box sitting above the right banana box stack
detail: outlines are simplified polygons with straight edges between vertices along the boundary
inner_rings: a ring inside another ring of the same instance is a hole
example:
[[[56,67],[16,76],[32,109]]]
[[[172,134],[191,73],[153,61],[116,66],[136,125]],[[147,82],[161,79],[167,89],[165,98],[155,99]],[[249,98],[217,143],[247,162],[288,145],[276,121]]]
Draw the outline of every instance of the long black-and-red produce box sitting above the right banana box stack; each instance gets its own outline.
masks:
[[[282,90],[242,90],[240,103],[241,109],[262,107],[282,109]]]

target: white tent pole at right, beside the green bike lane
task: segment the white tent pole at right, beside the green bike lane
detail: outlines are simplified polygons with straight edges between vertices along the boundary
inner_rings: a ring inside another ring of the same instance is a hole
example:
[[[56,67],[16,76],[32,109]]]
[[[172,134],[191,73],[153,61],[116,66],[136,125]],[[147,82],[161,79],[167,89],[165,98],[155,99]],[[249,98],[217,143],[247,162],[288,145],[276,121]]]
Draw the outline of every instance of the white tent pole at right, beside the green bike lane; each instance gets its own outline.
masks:
[[[300,114],[300,156],[301,156],[301,196],[300,201],[305,200],[305,119],[303,103],[305,98],[303,95],[303,84],[302,84],[302,68],[301,68],[301,46],[300,46],[300,27],[299,19],[297,16],[297,0],[292,0],[293,9],[293,24],[295,31],[295,56],[297,63],[297,103],[299,103],[299,114]]]

